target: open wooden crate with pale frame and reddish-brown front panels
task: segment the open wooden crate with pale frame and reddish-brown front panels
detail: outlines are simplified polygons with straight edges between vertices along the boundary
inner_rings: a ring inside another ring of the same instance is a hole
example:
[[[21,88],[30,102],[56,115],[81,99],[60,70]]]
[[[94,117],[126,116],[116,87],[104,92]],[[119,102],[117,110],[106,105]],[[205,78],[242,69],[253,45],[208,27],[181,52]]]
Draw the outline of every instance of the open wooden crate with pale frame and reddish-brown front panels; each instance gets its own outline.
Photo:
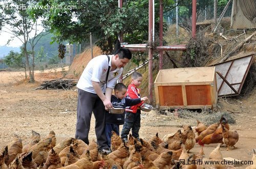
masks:
[[[156,104],[165,108],[215,108],[215,67],[163,69],[155,80]]]

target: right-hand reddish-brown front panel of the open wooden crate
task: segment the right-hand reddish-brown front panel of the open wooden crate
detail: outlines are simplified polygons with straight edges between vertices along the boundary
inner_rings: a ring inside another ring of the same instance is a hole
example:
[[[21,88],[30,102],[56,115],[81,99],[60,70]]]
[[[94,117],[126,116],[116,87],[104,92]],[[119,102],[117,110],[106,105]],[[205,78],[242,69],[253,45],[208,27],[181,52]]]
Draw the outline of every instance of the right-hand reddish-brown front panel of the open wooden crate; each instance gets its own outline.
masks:
[[[186,86],[187,105],[211,105],[210,86]]]

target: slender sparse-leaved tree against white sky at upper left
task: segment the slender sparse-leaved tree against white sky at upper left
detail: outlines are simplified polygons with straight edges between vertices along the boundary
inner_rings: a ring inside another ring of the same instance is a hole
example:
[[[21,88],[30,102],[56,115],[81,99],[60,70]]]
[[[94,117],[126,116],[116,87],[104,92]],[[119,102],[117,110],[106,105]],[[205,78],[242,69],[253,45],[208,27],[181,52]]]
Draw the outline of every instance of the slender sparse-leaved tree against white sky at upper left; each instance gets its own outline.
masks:
[[[14,37],[18,38],[23,43],[23,51],[26,59],[26,67],[29,71],[30,82],[34,82],[34,46],[40,39],[37,38],[36,41],[35,37],[40,37],[41,32],[38,33],[37,19],[32,20],[27,14],[26,8],[29,7],[30,2],[31,1],[28,0],[4,2],[5,6],[1,6],[0,9],[2,13],[0,25],[3,24],[6,30],[8,30],[5,32],[11,34],[8,43],[12,41]],[[10,28],[8,28],[7,25],[9,25]],[[31,46],[31,56],[29,55],[28,45]],[[30,57],[32,59],[32,67]]]

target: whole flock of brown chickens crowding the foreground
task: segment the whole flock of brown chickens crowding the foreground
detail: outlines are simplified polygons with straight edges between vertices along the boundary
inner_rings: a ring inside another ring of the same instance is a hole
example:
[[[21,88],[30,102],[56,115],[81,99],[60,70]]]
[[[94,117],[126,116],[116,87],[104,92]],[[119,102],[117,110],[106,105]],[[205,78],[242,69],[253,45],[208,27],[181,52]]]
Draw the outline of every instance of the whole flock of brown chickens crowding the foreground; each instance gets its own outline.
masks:
[[[208,127],[197,122],[198,125],[195,128],[197,137],[191,126],[187,125],[183,126],[183,132],[178,130],[175,134],[167,134],[162,139],[157,133],[149,142],[142,138],[135,139],[130,134],[129,142],[124,143],[112,131],[112,153],[108,155],[98,152],[98,145],[94,139],[89,145],[71,137],[56,144],[53,131],[41,139],[40,134],[32,130],[31,141],[27,145],[23,146],[22,139],[15,136],[13,141],[0,151],[0,169],[234,168],[221,163],[206,164],[205,161],[223,161],[220,146],[225,143],[227,150],[234,147],[238,142],[238,133],[229,130],[224,117],[219,123]],[[189,150],[195,146],[196,142],[202,146],[200,152],[189,155]],[[208,158],[205,158],[203,145],[211,143],[219,143],[219,145]],[[256,168],[255,150],[252,161],[254,164],[248,168]]]

